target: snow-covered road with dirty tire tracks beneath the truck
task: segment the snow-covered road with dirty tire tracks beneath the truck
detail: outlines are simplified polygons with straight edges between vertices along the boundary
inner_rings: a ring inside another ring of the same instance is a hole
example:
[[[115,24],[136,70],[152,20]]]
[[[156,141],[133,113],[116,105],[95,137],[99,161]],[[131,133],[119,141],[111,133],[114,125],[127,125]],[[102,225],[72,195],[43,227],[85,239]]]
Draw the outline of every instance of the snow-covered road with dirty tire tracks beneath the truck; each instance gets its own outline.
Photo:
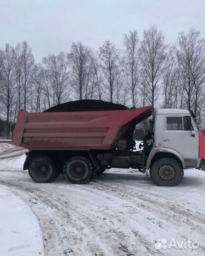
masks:
[[[36,215],[45,256],[205,252],[205,173],[199,170],[187,170],[177,187],[158,187],[149,176],[131,169],[112,169],[87,184],[74,185],[63,175],[53,183],[34,183],[27,172],[9,167],[0,171],[0,186]],[[167,245],[171,238],[179,243],[190,239],[200,247],[158,250],[155,243],[161,238]]]

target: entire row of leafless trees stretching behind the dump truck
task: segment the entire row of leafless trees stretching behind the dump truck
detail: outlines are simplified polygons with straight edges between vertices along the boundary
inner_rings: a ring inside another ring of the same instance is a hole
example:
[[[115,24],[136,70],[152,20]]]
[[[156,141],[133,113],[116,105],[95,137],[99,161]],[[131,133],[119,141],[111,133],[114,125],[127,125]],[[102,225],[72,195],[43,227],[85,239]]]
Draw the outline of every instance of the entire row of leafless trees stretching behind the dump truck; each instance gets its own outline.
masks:
[[[136,30],[125,34],[123,50],[109,40],[98,52],[72,43],[69,53],[48,55],[40,64],[26,41],[7,44],[0,50],[0,136],[12,135],[19,109],[40,112],[76,99],[184,108],[202,128],[204,89],[205,38],[194,28],[179,33],[175,45],[155,26],[142,39]]]

